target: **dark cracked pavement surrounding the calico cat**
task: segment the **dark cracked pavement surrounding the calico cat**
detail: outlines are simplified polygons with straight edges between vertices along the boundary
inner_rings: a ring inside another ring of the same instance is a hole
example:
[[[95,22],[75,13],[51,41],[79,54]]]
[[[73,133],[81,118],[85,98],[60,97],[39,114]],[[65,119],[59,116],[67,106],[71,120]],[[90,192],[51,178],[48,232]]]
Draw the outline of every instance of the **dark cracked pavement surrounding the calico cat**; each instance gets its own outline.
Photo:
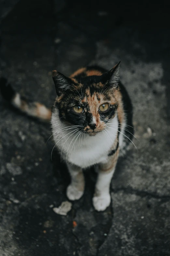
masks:
[[[69,175],[56,151],[51,162],[50,125],[0,98],[0,255],[170,255],[169,10],[164,2],[0,2],[0,76],[50,107],[53,69],[70,75],[121,60],[138,148],[118,162],[105,212],[92,207],[91,170],[84,196],[58,215]]]

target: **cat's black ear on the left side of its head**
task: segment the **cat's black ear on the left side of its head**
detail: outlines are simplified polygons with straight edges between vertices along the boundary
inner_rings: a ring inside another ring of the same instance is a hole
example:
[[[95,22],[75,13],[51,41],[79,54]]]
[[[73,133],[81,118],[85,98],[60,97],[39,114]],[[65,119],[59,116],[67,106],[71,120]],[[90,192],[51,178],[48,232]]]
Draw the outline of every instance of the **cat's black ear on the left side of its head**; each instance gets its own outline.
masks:
[[[71,79],[68,77],[65,77],[63,74],[61,74],[56,70],[52,71],[52,78],[53,78],[56,93],[58,96],[60,96],[62,93],[64,93],[66,90],[68,90],[71,87]]]

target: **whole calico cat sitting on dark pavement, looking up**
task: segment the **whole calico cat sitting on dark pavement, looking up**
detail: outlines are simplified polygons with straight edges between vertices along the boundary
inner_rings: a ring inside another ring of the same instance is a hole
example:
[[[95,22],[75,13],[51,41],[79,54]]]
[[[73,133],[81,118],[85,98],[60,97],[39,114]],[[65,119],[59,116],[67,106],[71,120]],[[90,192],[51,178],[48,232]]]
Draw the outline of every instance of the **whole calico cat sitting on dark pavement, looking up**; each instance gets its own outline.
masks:
[[[70,77],[54,70],[57,97],[52,112],[22,98],[4,78],[0,82],[1,94],[13,106],[28,115],[51,120],[54,147],[71,176],[66,190],[70,200],[83,195],[83,169],[95,166],[98,177],[92,201],[97,211],[104,211],[110,204],[109,187],[120,151],[126,151],[134,134],[132,103],[119,81],[119,65],[109,71],[84,67]]]

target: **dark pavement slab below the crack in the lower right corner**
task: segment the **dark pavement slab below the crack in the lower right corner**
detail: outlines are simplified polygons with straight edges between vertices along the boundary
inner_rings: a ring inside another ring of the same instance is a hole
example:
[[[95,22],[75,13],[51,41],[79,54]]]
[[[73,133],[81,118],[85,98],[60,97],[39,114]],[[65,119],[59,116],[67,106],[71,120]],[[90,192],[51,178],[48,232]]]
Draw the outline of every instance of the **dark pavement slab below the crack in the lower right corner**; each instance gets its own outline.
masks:
[[[169,255],[169,200],[112,193],[113,223],[98,255]]]

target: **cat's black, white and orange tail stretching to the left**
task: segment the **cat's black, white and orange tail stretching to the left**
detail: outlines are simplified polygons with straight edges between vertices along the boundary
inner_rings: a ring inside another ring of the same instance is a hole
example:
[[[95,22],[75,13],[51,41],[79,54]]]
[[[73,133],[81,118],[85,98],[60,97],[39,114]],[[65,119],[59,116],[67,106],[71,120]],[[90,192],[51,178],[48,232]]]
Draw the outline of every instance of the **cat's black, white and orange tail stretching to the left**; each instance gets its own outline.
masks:
[[[7,100],[13,107],[19,109],[21,112],[41,119],[43,121],[50,121],[51,110],[46,108],[39,102],[30,101],[14,91],[12,86],[4,77],[0,78],[0,92],[5,100]]]

